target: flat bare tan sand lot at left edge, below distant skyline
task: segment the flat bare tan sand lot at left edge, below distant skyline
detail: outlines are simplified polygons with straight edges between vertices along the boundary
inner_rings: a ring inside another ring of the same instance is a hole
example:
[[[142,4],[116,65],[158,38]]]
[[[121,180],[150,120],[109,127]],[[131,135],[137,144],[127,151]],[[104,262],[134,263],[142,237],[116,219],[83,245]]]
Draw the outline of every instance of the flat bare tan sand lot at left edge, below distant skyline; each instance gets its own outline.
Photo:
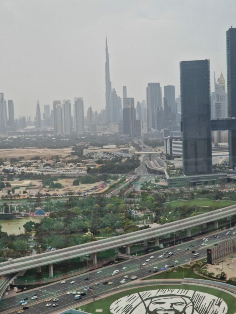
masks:
[[[71,153],[71,147],[68,148],[62,148],[62,149],[39,149],[36,147],[30,147],[30,148],[16,148],[16,149],[1,149],[0,157],[1,158],[7,158],[8,160],[10,158],[17,158],[17,157],[24,157],[25,160],[31,159],[35,156],[40,157],[51,157],[53,155],[59,155],[62,157],[65,157]]]

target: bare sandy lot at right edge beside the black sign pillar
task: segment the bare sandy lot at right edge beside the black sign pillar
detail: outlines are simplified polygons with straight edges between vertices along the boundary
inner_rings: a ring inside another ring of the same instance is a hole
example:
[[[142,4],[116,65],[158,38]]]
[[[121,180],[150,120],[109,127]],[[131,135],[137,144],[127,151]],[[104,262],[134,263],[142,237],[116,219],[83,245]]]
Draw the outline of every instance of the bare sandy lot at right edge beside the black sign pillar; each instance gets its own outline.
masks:
[[[233,256],[233,258],[230,258]],[[223,260],[223,270],[222,270],[222,261],[219,260],[217,264],[210,265],[207,264],[207,271],[212,272],[215,275],[221,273],[222,271],[227,274],[227,278],[236,277],[236,254],[230,254],[228,256],[224,256]]]

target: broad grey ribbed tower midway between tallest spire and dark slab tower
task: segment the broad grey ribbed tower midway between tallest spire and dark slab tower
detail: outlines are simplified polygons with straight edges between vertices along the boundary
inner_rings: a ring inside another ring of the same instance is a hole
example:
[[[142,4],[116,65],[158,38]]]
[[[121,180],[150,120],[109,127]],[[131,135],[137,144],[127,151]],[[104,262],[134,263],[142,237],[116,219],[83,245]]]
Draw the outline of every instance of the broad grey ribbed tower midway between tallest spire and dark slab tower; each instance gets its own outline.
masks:
[[[162,108],[160,83],[148,83],[147,87],[147,124],[148,129],[156,129],[156,110]]]

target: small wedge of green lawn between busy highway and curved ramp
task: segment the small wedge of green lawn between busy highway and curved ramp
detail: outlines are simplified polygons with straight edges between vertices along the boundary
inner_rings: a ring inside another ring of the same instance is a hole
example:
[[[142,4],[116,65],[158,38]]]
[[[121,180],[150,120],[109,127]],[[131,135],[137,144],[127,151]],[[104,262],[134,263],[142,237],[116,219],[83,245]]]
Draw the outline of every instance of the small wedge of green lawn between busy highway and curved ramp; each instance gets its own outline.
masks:
[[[194,278],[194,279],[206,279],[203,276],[200,276],[192,269],[177,267],[176,272],[173,269],[166,271],[164,273],[157,273],[151,277],[147,277],[143,280],[153,280],[153,279],[183,279],[183,278]]]

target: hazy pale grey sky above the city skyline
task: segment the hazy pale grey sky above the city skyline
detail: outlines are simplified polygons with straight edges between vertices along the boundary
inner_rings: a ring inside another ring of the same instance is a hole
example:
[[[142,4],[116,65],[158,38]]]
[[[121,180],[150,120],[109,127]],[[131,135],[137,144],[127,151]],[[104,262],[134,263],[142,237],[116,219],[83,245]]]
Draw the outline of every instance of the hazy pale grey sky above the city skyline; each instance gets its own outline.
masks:
[[[0,0],[0,92],[15,117],[53,100],[84,97],[85,110],[105,108],[105,32],[110,78],[135,102],[148,82],[175,85],[179,62],[210,58],[226,78],[226,30],[235,0]],[[236,27],[236,24],[233,24]],[[164,89],[163,89],[164,93]]]

